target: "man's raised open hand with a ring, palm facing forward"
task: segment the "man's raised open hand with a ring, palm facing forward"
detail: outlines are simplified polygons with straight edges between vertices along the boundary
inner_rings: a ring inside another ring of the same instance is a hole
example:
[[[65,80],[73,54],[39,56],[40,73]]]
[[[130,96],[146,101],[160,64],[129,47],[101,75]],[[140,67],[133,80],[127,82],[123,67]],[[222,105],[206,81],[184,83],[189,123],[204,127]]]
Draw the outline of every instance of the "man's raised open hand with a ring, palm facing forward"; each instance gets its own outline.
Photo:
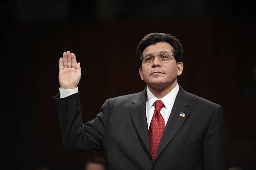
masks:
[[[63,58],[59,59],[59,84],[61,88],[77,88],[81,79],[80,62],[77,63],[74,53],[69,51],[63,53]]]

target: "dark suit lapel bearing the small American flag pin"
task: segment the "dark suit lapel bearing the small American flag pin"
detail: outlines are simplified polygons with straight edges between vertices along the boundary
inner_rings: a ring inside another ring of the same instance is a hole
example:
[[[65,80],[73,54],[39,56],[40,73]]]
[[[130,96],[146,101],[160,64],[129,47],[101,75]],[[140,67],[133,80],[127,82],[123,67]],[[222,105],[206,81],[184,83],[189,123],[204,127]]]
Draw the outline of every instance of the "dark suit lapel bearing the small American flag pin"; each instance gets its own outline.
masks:
[[[161,152],[164,150],[166,145],[168,145],[168,143],[172,140],[174,135],[178,132],[178,130],[182,126],[183,122],[187,119],[187,116],[189,115],[189,112],[190,112],[187,109],[188,105],[189,105],[189,102],[185,95],[185,91],[179,85],[179,92],[174,101],[174,105],[172,107],[171,114],[169,116],[166,127],[164,129],[164,133],[160,140],[155,160],[161,154]],[[180,116],[181,112],[183,112],[185,114],[185,117]]]

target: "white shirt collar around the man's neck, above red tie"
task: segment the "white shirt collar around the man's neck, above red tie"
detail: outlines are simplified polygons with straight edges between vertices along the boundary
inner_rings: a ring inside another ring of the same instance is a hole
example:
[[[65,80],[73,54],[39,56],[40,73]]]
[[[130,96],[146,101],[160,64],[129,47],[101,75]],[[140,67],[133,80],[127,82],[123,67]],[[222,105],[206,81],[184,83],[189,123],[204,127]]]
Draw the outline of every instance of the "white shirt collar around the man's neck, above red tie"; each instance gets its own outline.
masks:
[[[161,99],[158,99],[155,95],[153,95],[153,93],[148,89],[148,87],[147,87],[146,91],[147,91],[147,96],[148,96],[149,108],[151,108],[153,106],[153,104],[156,100],[161,100],[164,103],[164,107],[166,107],[166,109],[169,112],[171,112],[175,98],[179,91],[179,85],[177,83],[176,87],[174,87],[174,89],[172,89],[172,91],[170,91],[167,95],[165,95]]]

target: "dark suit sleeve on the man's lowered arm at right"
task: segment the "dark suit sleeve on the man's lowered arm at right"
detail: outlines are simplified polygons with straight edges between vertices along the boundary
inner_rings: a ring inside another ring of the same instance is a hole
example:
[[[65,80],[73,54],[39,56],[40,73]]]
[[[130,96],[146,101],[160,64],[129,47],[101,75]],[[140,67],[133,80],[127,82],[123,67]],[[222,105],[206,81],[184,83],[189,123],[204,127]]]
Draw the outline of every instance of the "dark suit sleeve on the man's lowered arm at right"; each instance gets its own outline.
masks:
[[[203,144],[204,170],[228,170],[228,136],[220,105],[215,108]]]

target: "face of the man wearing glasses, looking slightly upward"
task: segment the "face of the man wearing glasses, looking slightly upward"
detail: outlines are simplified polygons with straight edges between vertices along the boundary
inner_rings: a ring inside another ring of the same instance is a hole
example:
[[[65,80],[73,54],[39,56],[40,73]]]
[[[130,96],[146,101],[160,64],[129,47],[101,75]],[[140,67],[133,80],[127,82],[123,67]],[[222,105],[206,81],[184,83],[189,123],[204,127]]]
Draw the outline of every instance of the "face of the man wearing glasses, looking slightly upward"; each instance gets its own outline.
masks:
[[[161,51],[167,51],[173,54],[173,47],[167,42],[158,42],[145,48],[142,55],[154,54],[158,55]],[[171,60],[161,62],[155,57],[151,63],[142,63],[139,69],[141,80],[152,88],[154,87],[170,87],[177,82],[177,75],[181,75],[183,70],[182,62],[176,63],[173,58]],[[176,85],[176,84],[175,84]]]

